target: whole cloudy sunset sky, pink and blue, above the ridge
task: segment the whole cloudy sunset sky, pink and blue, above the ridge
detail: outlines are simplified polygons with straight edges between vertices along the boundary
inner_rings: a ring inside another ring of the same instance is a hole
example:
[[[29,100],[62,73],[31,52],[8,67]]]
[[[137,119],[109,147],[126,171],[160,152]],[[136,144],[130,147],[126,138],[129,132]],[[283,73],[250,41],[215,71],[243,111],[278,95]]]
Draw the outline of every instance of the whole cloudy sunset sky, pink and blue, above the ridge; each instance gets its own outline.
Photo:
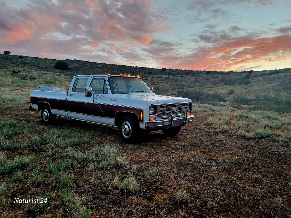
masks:
[[[290,0],[2,0],[12,54],[192,70],[291,67]]]

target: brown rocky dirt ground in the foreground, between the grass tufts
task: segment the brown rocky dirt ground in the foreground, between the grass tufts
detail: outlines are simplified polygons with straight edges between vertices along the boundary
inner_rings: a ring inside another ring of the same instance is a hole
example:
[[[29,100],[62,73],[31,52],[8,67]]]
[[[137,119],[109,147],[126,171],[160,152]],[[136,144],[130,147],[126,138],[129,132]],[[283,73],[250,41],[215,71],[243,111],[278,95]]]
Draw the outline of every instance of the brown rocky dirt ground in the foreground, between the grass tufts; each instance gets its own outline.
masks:
[[[10,192],[1,199],[1,216],[74,216],[74,208],[61,193],[67,188],[74,196],[83,196],[83,217],[291,217],[290,143],[279,145],[272,138],[246,139],[232,131],[210,132],[204,124],[209,115],[194,115],[194,122],[174,138],[165,137],[161,131],[151,132],[142,136],[140,144],[128,145],[121,141],[116,128],[60,117],[54,126],[43,126],[40,112],[0,108],[2,118],[36,123],[39,130],[32,134],[45,135],[51,128],[98,133],[88,143],[77,143],[74,149],[88,152],[95,144],[117,143],[131,166],[89,170],[90,163],[83,160],[66,168],[72,183],[64,185],[46,167],[61,159],[49,152],[47,145],[0,148],[8,159],[28,153],[37,157],[21,168],[22,181],[11,182],[11,172],[1,174],[2,182],[11,183]],[[15,139],[20,145],[25,137],[31,137],[20,135]],[[44,181],[31,180],[31,171],[36,167]],[[157,172],[151,178],[147,177],[149,169]],[[117,173],[134,174],[139,191],[134,194],[110,185],[108,181]],[[14,198],[39,195],[47,197],[41,207],[13,203]]]

